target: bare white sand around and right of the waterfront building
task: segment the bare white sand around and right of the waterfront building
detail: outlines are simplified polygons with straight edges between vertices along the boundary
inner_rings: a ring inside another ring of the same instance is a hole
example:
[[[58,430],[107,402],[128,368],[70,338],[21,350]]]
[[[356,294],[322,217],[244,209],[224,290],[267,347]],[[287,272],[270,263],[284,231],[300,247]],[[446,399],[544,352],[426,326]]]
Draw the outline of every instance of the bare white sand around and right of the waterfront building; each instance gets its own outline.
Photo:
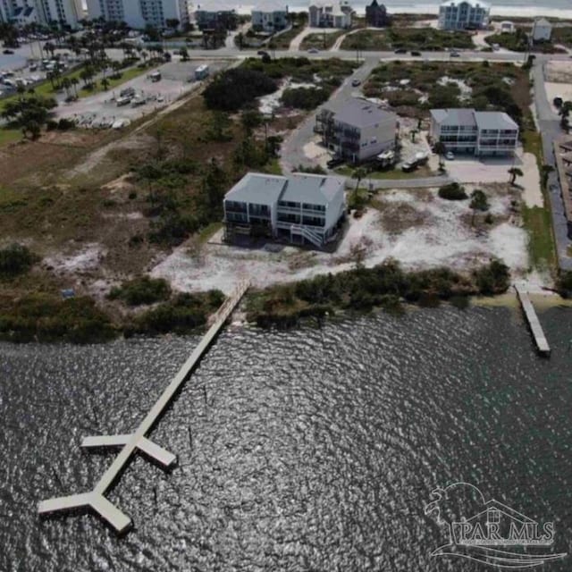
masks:
[[[333,254],[286,247],[279,253],[206,244],[200,257],[190,257],[185,245],[177,248],[152,271],[169,280],[178,290],[218,288],[230,292],[241,275],[248,275],[256,286],[292,282],[321,273],[338,273],[356,264],[357,248],[365,251],[367,267],[394,257],[405,268],[422,269],[447,265],[467,270],[486,263],[491,256],[503,259],[516,273],[526,272],[526,231],[500,223],[477,234],[461,219],[470,214],[468,201],[446,201],[431,189],[422,198],[415,190],[383,191],[381,201],[414,206],[425,220],[418,226],[391,232],[383,228],[383,215],[369,208],[360,219],[351,219],[349,230]],[[492,214],[507,216],[506,192],[490,195]]]

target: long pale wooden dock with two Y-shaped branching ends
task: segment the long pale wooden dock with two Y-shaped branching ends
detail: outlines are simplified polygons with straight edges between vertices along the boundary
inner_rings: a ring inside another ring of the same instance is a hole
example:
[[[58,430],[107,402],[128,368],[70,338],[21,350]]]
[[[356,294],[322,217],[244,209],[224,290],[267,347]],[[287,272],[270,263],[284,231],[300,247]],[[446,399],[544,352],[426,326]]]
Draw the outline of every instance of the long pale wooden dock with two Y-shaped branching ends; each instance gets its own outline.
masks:
[[[176,374],[171,383],[165,388],[155,405],[147,413],[135,433],[125,435],[97,435],[86,437],[81,443],[84,448],[121,448],[112,465],[105,471],[96,487],[91,492],[83,492],[66,497],[58,497],[48,501],[41,501],[38,505],[40,515],[52,514],[55,512],[71,511],[76,509],[91,509],[102,517],[105,522],[114,528],[118,534],[125,533],[132,526],[130,517],[123,514],[114,504],[107,501],[105,492],[114,484],[116,478],[121,474],[123,467],[130,461],[131,456],[139,450],[148,458],[156,461],[165,468],[173,467],[177,458],[170,451],[164,450],[156,443],[147,439],[146,435],[155,425],[157,419],[162,415],[172,398],[181,388],[193,368],[198,364],[200,358],[206,353],[210,344],[214,341],[217,333],[223,327],[232,311],[240,302],[248,290],[249,282],[240,282],[236,290],[227,298],[223,305],[213,316],[214,321],[208,329],[198,346],[193,350],[189,359],[183,364],[179,373]]]

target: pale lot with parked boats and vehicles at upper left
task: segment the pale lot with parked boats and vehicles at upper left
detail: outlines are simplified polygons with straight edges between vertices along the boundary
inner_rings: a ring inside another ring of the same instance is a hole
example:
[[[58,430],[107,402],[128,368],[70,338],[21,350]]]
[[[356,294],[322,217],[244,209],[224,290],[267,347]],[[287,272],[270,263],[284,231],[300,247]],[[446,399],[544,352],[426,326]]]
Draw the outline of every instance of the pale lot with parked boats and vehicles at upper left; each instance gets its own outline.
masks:
[[[94,96],[82,97],[71,103],[63,103],[55,110],[55,116],[71,119],[82,127],[106,127],[113,123],[120,125],[121,120],[127,123],[139,119],[197,88],[200,82],[195,80],[195,70],[201,64],[209,66],[210,74],[222,70],[227,65],[220,61],[164,63],[117,88]],[[150,76],[155,71],[160,71],[161,80],[151,80]],[[133,88],[135,97],[127,105],[117,105],[122,90],[126,88]]]

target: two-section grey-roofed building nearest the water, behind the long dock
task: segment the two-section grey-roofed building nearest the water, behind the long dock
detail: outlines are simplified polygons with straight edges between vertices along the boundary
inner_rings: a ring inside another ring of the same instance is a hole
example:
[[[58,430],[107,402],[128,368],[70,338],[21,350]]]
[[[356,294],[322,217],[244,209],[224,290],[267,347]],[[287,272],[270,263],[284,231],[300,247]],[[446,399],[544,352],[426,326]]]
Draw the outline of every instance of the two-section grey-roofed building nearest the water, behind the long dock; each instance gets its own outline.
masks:
[[[342,177],[249,172],[224,197],[224,239],[266,237],[326,248],[346,217]]]

